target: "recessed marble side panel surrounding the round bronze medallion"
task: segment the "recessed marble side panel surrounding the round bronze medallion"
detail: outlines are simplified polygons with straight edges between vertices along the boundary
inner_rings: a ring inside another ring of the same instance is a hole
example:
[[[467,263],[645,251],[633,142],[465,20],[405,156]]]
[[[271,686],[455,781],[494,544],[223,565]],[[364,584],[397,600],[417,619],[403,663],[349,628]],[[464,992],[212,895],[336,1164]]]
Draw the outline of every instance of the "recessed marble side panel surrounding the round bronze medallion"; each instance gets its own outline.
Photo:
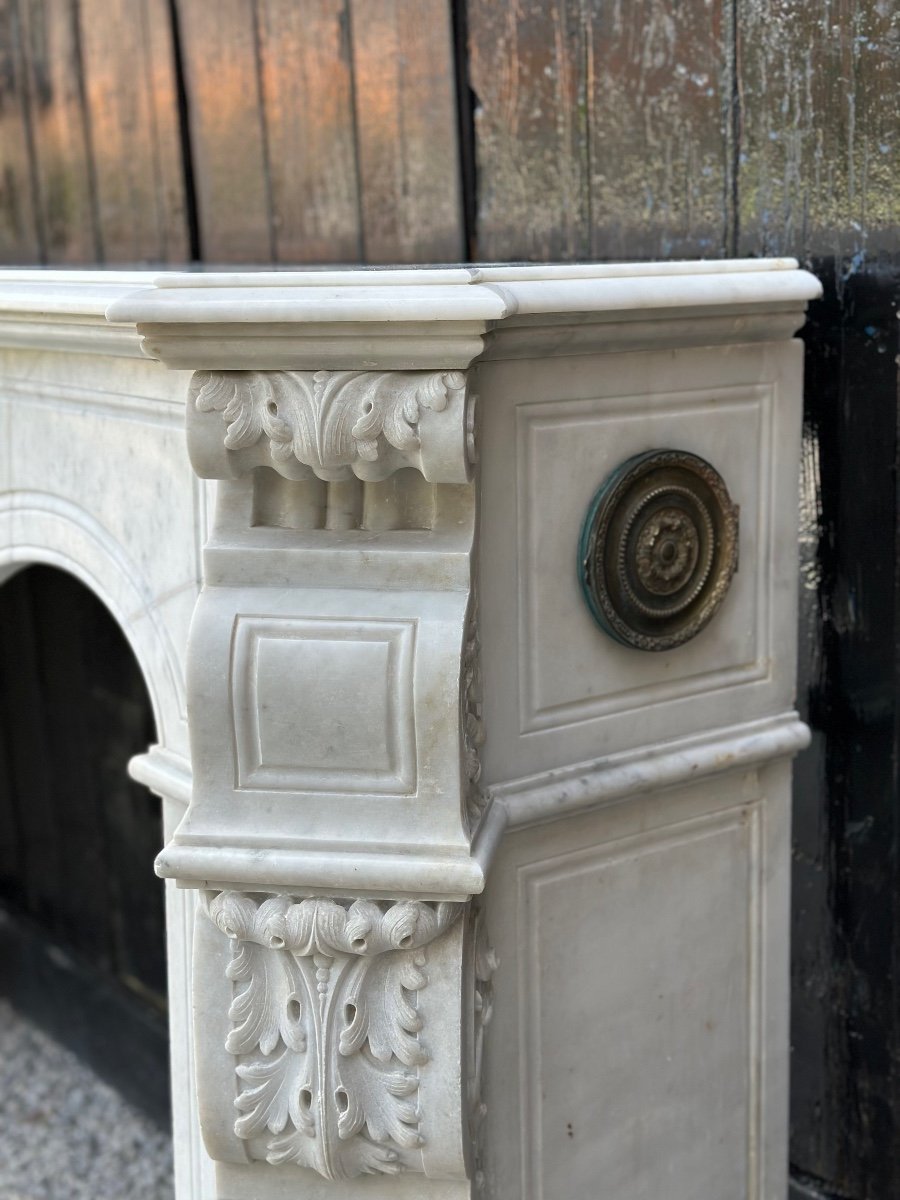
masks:
[[[521,404],[517,421],[520,732],[558,728],[769,672],[772,385]],[[710,462],[740,506],[740,563],[721,610],[668,653],[619,646],[577,580],[578,535],[610,473],[646,450]],[[566,486],[548,488],[566,464]]]

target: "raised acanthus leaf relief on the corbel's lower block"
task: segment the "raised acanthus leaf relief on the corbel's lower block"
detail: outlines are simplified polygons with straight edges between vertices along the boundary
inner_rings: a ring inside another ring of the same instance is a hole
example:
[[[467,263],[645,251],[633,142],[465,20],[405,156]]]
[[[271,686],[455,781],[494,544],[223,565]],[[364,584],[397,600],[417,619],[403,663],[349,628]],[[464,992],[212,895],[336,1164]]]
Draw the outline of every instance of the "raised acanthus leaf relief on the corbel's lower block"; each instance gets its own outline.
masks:
[[[428,1062],[415,996],[428,944],[462,905],[341,904],[223,892],[208,912],[234,940],[227,1049],[239,1062],[235,1134],[269,1163],[326,1178],[396,1174],[422,1144]]]

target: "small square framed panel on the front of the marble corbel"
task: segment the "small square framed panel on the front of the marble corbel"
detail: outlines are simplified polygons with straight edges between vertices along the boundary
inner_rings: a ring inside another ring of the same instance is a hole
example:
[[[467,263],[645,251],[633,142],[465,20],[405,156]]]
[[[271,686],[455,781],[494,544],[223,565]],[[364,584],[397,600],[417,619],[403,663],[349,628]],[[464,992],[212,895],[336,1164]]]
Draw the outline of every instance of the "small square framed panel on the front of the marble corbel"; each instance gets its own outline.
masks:
[[[236,786],[414,792],[414,640],[413,622],[239,618]]]

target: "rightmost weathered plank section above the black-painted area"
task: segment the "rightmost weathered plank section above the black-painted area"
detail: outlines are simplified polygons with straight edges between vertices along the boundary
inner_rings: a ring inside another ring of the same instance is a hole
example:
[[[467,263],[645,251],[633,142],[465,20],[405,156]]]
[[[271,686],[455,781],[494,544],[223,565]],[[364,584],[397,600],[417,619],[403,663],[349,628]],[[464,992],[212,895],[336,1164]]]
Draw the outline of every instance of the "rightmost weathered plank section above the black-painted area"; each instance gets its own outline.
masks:
[[[895,252],[900,7],[739,5],[742,251]]]

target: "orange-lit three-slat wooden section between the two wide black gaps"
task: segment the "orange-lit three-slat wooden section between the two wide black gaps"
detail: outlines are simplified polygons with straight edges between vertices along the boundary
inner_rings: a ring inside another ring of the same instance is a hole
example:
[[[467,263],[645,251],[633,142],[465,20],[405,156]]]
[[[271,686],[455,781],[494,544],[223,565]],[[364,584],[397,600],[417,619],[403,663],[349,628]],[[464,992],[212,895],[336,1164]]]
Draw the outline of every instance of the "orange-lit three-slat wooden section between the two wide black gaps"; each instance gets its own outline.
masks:
[[[463,250],[449,0],[179,0],[203,257]]]

